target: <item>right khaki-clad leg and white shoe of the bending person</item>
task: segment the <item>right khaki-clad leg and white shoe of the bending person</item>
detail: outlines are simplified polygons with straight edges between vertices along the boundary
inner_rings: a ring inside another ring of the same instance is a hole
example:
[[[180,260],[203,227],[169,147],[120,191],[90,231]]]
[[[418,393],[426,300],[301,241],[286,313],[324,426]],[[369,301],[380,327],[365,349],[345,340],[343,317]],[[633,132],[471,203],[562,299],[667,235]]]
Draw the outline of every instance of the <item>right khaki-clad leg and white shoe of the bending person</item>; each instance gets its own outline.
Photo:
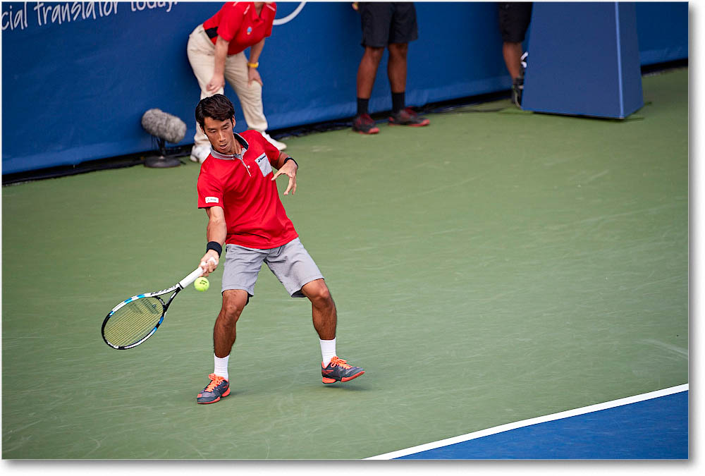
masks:
[[[264,103],[262,102],[262,85],[257,81],[250,83],[247,80],[247,57],[245,53],[228,56],[225,62],[225,78],[238,94],[240,107],[243,109],[245,123],[250,129],[258,130],[266,140],[269,140],[279,150],[286,149],[286,145],[278,142],[266,133],[269,124],[264,116]]]

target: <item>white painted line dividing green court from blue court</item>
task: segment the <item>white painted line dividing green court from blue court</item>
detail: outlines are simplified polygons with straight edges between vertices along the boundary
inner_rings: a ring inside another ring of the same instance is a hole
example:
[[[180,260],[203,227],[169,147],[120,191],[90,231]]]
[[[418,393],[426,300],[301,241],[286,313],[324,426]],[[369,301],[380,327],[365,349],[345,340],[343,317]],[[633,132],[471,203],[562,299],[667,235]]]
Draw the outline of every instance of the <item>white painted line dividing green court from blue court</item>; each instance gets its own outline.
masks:
[[[412,446],[411,448],[405,448],[398,451],[391,451],[391,453],[384,453],[377,456],[370,456],[369,458],[364,458],[366,460],[391,460],[393,458],[399,458],[400,456],[407,456],[414,453],[419,453],[421,451],[428,451],[430,449],[440,448],[441,446],[448,446],[455,443],[462,443],[462,441],[469,441],[471,439],[477,439],[482,437],[487,437],[491,434],[497,434],[501,432],[508,432],[510,429],[517,429],[522,427],[528,427],[529,425],[536,425],[537,423],[551,422],[553,420],[560,420],[562,418],[575,417],[577,415],[584,415],[585,413],[597,412],[599,410],[606,410],[608,408],[614,408],[622,405],[629,405],[630,403],[637,403],[644,400],[651,400],[651,398],[658,398],[662,396],[671,395],[673,393],[680,393],[682,391],[688,390],[688,384],[682,384],[677,386],[672,386],[668,389],[651,391],[649,393],[642,393],[641,395],[635,395],[625,398],[620,398],[618,400],[613,400],[605,403],[596,403],[595,405],[589,405],[587,407],[575,408],[573,410],[565,410],[564,412],[553,413],[552,415],[544,415],[543,417],[529,418],[529,420],[522,420],[520,422],[506,423],[505,425],[499,425],[498,427],[492,427],[487,429],[481,429],[478,432],[472,432],[467,434],[461,434],[458,437],[441,439],[439,441],[433,441],[431,443],[421,444],[419,446]]]

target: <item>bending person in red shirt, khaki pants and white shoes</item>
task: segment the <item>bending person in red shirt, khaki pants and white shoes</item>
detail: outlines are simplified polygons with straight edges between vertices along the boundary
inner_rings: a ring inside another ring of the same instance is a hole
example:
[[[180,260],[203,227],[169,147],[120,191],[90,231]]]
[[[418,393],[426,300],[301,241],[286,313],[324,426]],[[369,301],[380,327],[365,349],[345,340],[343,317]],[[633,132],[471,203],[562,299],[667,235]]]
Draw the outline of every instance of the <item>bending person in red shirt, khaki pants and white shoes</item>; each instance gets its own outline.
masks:
[[[269,124],[262,103],[262,78],[257,71],[264,39],[271,36],[276,3],[264,1],[229,1],[214,16],[198,25],[188,37],[188,61],[201,88],[201,99],[223,94],[225,81],[238,94],[245,122],[259,130],[279,150],[286,144],[266,133]],[[250,58],[245,49],[250,48]],[[203,162],[208,157],[208,139],[196,124],[191,160]]]

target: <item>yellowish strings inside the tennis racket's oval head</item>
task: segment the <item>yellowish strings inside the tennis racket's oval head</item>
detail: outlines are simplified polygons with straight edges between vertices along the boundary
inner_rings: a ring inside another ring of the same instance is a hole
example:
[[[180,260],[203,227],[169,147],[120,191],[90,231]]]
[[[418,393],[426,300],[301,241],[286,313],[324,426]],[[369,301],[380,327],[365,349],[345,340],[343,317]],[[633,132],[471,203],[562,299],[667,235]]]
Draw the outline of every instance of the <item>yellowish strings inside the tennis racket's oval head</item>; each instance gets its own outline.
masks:
[[[164,303],[159,298],[134,300],[108,319],[104,329],[105,338],[116,346],[136,343],[154,329],[163,312]]]

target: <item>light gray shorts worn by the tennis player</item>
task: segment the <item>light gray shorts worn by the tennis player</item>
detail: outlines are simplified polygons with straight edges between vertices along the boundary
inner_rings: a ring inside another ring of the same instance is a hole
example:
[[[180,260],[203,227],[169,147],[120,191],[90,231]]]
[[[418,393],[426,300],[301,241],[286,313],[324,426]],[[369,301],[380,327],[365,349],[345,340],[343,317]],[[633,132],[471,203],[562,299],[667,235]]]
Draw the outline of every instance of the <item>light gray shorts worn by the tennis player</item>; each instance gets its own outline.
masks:
[[[255,295],[255,282],[262,263],[266,263],[292,298],[305,298],[301,288],[314,279],[323,278],[299,238],[269,250],[226,245],[221,293],[228,289],[243,289],[248,295]]]

